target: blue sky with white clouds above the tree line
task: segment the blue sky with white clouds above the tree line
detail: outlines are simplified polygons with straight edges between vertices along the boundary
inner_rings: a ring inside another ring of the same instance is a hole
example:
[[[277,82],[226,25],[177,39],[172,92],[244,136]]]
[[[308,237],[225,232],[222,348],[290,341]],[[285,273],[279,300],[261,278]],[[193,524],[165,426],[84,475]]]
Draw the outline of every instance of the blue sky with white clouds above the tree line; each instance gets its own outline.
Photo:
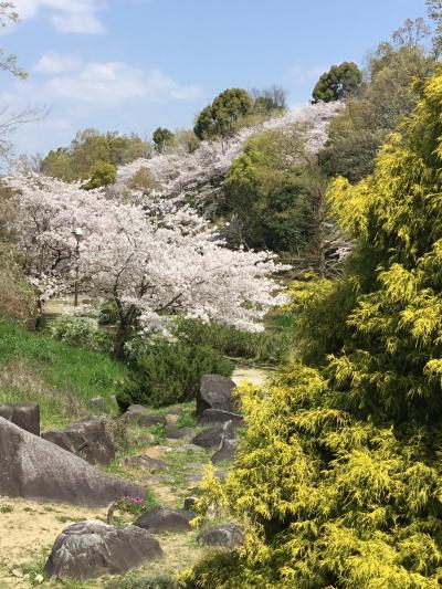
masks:
[[[19,152],[67,145],[78,129],[190,127],[222,90],[280,84],[308,101],[318,75],[364,63],[424,0],[15,0],[0,39],[27,82],[1,74],[0,106],[51,106],[17,133]]]

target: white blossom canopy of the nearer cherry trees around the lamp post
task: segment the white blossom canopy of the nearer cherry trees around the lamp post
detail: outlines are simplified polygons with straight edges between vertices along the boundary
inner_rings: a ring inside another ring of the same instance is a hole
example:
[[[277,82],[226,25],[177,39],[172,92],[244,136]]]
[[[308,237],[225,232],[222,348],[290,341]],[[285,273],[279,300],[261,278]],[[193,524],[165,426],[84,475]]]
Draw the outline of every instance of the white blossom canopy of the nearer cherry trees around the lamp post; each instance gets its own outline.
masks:
[[[262,329],[261,319],[285,298],[267,252],[232,251],[189,207],[172,200],[123,203],[40,175],[7,179],[20,210],[15,227],[25,267],[41,303],[72,290],[114,299],[120,322],[165,330],[170,315]],[[134,196],[136,200],[136,194]],[[84,239],[76,241],[73,230]]]

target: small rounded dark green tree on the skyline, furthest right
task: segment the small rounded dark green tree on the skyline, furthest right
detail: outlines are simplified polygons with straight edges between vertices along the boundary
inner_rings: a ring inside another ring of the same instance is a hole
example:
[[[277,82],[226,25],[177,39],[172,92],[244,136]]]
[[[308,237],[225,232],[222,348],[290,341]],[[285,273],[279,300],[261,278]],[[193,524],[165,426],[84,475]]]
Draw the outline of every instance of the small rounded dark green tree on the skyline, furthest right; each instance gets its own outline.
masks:
[[[313,102],[329,103],[343,101],[356,94],[362,84],[362,72],[354,62],[344,62],[340,65],[332,65],[324,73],[313,90]]]

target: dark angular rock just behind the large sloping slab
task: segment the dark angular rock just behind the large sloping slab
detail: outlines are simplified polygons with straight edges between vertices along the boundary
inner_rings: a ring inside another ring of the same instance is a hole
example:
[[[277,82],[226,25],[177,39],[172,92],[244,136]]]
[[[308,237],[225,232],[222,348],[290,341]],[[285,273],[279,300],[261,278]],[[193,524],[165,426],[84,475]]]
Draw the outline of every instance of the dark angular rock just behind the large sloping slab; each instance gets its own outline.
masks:
[[[83,419],[63,432],[45,432],[43,438],[91,464],[109,464],[115,459],[115,446],[106,431],[104,418]]]

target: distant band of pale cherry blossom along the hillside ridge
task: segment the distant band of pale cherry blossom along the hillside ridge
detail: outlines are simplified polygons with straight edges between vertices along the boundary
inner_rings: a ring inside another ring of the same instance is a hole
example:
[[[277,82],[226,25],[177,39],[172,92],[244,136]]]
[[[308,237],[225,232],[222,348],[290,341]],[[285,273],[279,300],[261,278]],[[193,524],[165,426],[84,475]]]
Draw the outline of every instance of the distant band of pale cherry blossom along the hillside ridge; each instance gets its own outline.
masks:
[[[305,105],[254,127],[240,130],[234,137],[218,141],[202,141],[193,154],[177,150],[150,159],[137,159],[118,169],[117,190],[127,186],[141,168],[150,171],[162,196],[191,194],[203,199],[221,183],[232,161],[242,154],[246,140],[262,130],[305,126],[307,149],[316,152],[327,139],[328,124],[341,108],[340,103]]]

